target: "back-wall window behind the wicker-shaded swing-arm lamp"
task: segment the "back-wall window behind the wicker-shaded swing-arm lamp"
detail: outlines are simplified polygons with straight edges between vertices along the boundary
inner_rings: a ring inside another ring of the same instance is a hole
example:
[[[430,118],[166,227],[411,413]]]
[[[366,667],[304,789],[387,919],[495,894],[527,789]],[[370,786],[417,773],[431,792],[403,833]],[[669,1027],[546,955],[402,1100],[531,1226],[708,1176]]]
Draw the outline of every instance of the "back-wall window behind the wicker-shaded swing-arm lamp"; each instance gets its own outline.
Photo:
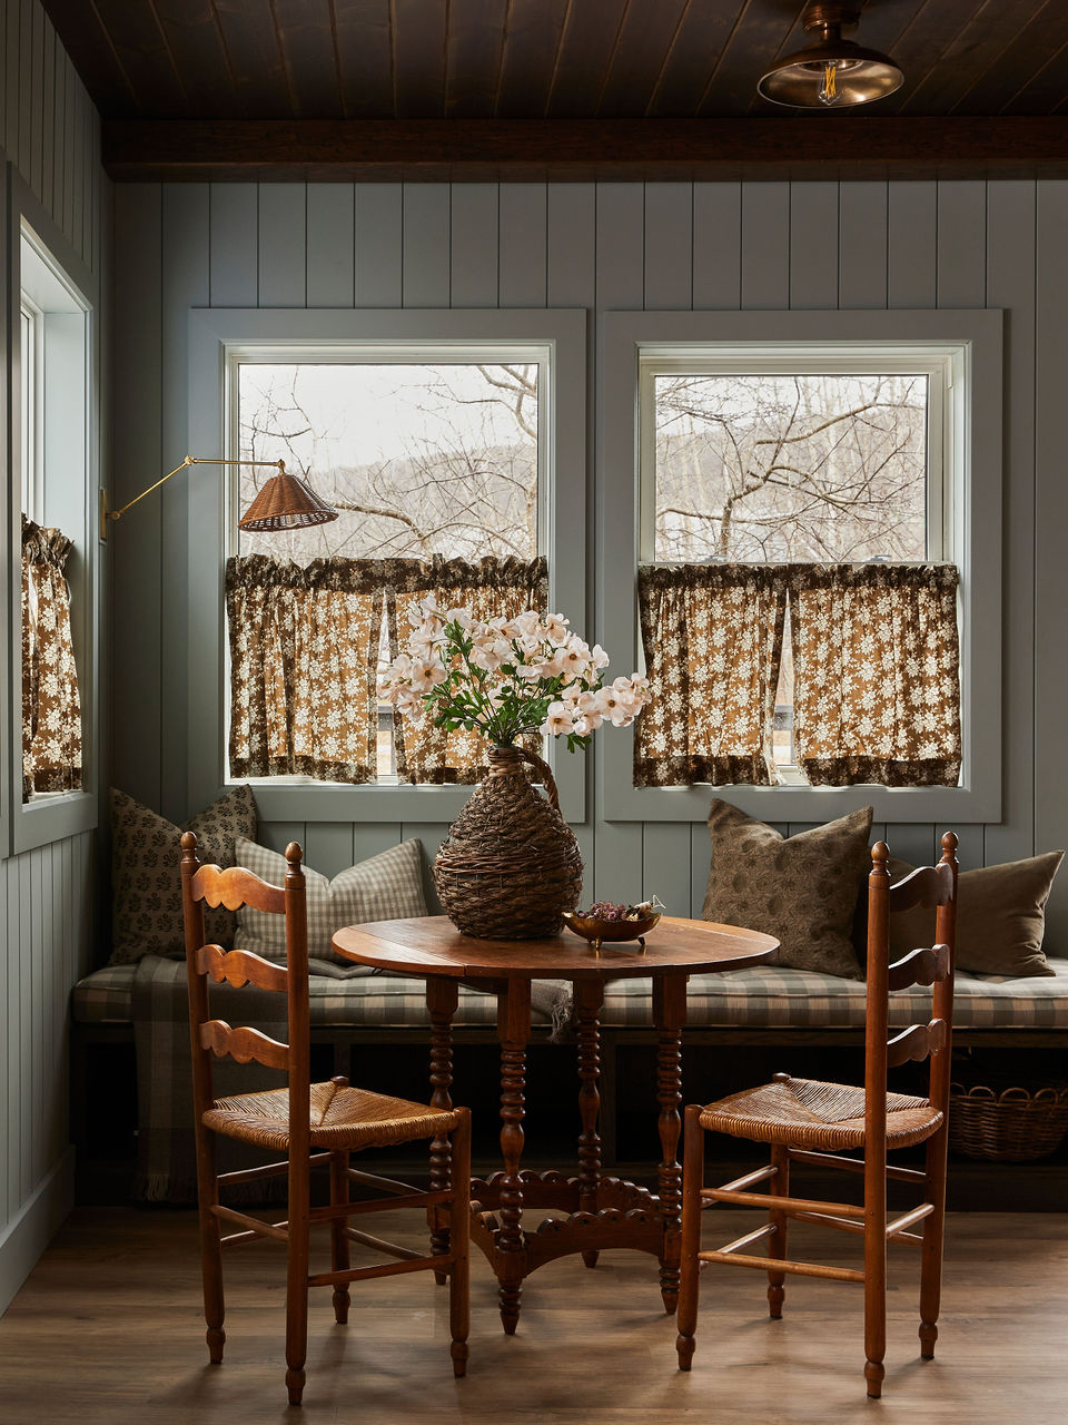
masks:
[[[195,608],[206,581],[201,627],[209,617],[208,591],[219,594],[211,613],[219,638],[211,722],[224,781],[241,770],[224,760],[232,740],[221,589],[228,560],[293,560],[313,579],[316,561],[326,559],[426,566],[436,559],[534,564],[544,557],[553,606],[574,610],[577,624],[584,620],[584,368],[582,312],[194,314],[189,449],[283,459],[340,513],[309,530],[249,536],[238,529],[239,513],[269,469],[244,466],[219,476],[218,526],[215,502],[204,490],[214,472],[198,470],[189,482],[197,510],[191,519],[198,522],[189,550]],[[199,537],[212,527],[214,560]],[[347,593],[356,596],[362,586]],[[373,628],[376,617],[372,610]],[[384,637],[383,627],[379,658]],[[199,693],[206,684],[191,688],[191,697]],[[326,782],[310,760],[303,775],[258,782],[263,815],[450,819],[463,794],[447,785],[407,785],[399,775],[390,710],[376,708],[375,715],[370,777]],[[191,703],[191,725],[206,724],[204,708]],[[191,762],[191,785],[198,779],[205,794],[218,787]],[[581,788],[572,799],[581,818]]]

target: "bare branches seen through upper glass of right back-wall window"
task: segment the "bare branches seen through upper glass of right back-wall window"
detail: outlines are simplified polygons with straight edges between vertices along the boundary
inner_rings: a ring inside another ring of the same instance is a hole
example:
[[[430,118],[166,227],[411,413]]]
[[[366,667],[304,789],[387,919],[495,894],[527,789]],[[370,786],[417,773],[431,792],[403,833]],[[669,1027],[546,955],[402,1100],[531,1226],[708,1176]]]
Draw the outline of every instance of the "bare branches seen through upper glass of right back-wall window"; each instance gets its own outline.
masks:
[[[656,378],[655,559],[926,559],[927,378]]]

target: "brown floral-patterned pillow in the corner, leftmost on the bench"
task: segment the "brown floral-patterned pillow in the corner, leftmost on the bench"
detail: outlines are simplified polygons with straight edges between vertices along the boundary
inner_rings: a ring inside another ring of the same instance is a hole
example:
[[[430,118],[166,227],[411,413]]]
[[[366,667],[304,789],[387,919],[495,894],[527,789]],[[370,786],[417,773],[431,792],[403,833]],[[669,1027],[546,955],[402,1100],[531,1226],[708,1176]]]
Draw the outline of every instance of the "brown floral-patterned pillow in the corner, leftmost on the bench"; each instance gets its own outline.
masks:
[[[111,965],[131,965],[142,955],[185,955],[182,831],[197,834],[201,861],[234,865],[238,836],[256,835],[256,804],[249,787],[234,787],[185,826],[111,789]],[[208,938],[229,948],[234,912],[206,911]]]

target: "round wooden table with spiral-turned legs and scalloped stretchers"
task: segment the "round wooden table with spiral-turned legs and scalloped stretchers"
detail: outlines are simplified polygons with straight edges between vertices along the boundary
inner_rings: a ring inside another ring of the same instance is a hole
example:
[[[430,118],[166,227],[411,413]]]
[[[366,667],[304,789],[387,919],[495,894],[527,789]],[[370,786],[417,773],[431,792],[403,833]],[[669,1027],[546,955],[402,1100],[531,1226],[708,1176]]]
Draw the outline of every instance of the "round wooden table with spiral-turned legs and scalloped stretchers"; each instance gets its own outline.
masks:
[[[459,986],[470,985],[497,996],[501,1042],[501,1154],[504,1170],[471,1183],[471,1234],[500,1282],[501,1321],[515,1331],[523,1281],[537,1267],[570,1253],[597,1263],[602,1247],[632,1247],[652,1253],[661,1264],[661,1292],[674,1311],[679,1288],[679,1207],[682,1168],[679,1104],[682,1102],[682,1027],[686,1023],[686,980],[692,973],[758,965],[779,948],[770,935],[708,921],[664,916],[646,939],[604,945],[594,950],[567,933],[543,940],[476,940],[461,935],[443,915],[410,921],[350,925],[333,936],[346,959],[397,975],[426,979],[430,1012],[430,1082],[434,1107],[451,1107],[451,1020]],[[662,1161],[658,1193],[601,1173],[597,1116],[601,1104],[600,1012],[611,979],[652,979],[652,1019],[658,1033],[656,1099]],[[520,1171],[523,1102],[530,1039],[530,986],[535,979],[574,983],[578,1020],[578,1176]],[[430,1147],[431,1190],[447,1187],[449,1141]],[[554,1207],[568,1213],[547,1218],[535,1233],[523,1231],[523,1207]],[[449,1248],[449,1228],[431,1223],[436,1253]]]

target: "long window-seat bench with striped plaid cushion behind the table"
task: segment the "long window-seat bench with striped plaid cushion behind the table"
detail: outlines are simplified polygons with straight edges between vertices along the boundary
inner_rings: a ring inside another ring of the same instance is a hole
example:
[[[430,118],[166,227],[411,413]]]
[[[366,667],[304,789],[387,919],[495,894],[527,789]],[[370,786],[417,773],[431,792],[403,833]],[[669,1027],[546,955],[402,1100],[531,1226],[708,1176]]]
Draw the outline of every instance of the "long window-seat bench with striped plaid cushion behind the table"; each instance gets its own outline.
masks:
[[[167,963],[169,970],[172,962]],[[958,973],[954,1054],[960,1053],[964,1062],[961,1077],[985,1082],[991,1072],[1018,1074],[1024,1082],[1035,1076],[1068,1077],[1064,1070],[1068,959],[1049,963],[1052,976],[1000,979]],[[161,1103],[161,1114],[171,1113],[171,1096],[167,1084],[161,1086],[168,1060],[152,1066],[137,1063],[135,970],[132,965],[107,966],[85,976],[73,990],[71,1136],[80,1150],[80,1184],[88,1184],[80,1186],[83,1201],[128,1200],[135,1133],[154,1131],[151,1123],[137,1124],[138,1087],[142,1104]],[[322,970],[310,976],[313,1073],[349,1074],[367,1087],[424,1096],[430,1042],[424,982],[386,973],[352,975],[337,966]],[[890,1013],[893,1026],[926,1022],[930,990],[896,992]],[[453,1023],[457,1099],[474,1109],[476,1150],[481,1140],[483,1156],[493,1161],[498,1127],[494,998],[461,986]],[[655,1164],[658,1151],[656,1109],[649,1089],[654,1082],[649,1060],[656,1045],[649,982],[609,982],[601,1023],[602,1159],[607,1167],[618,1164],[627,1173],[641,1173]],[[185,1030],[174,1025],[174,1032]],[[775,965],[695,975],[689,982],[684,1032],[684,1094],[712,1097],[731,1092],[735,1076],[740,1083],[758,1082],[753,1076],[770,1076],[783,1067],[850,1082],[863,1073],[863,1033],[862,980]],[[530,1053],[537,1057],[537,1067],[528,1077],[527,1103],[531,1167],[538,1166],[533,1154],[547,1126],[567,1133],[560,1104],[575,1086],[574,1045],[554,1043],[551,1036],[551,1015],[547,1009],[535,1010]],[[572,1039],[567,1033],[562,1037]],[[159,1042],[167,1045],[167,1036]],[[147,1100],[144,1090],[150,1080],[152,1093]],[[545,1097],[543,1104],[540,1093]],[[108,1104],[103,1137],[111,1139],[111,1167],[98,1163],[94,1167],[91,1161],[91,1154],[100,1154],[101,1103]],[[570,1153],[568,1143],[567,1137],[558,1139],[557,1151]],[[1062,1186],[1064,1164],[1047,1168],[1054,1170]],[[1052,1190],[1042,1187],[1041,1193]],[[1041,1201],[1044,1197],[1035,1198],[1037,1204]]]

